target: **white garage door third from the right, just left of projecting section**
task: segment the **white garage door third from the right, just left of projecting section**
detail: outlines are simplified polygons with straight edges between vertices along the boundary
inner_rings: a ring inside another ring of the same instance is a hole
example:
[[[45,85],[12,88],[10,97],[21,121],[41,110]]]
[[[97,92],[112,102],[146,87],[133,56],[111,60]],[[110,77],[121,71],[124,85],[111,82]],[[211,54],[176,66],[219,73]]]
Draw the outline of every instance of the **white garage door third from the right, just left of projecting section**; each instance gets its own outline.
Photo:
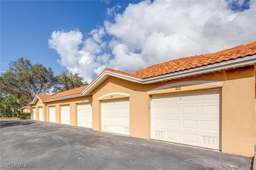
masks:
[[[77,125],[92,128],[92,104],[77,105]]]

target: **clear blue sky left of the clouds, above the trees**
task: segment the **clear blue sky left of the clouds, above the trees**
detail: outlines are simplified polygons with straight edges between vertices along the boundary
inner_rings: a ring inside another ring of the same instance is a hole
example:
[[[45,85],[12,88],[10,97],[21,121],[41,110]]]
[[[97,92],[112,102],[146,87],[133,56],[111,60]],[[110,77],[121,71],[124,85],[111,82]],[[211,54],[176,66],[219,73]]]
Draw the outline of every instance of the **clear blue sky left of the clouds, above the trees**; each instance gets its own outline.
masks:
[[[66,67],[49,48],[52,32],[79,29],[86,35],[103,24],[107,8],[120,4],[124,9],[129,2],[136,1],[1,1],[1,72],[10,61],[24,57],[60,74]]]

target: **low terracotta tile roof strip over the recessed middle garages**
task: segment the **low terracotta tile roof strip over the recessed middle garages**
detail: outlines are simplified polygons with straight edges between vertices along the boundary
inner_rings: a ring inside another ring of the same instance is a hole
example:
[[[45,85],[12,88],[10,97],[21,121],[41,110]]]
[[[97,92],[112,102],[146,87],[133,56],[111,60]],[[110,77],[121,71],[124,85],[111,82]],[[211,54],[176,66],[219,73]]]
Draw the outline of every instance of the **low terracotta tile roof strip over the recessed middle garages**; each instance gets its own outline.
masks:
[[[66,90],[66,91],[60,92],[60,93],[54,93],[54,94],[36,94],[36,96],[38,96],[42,101],[56,99],[56,98],[62,98],[62,97],[66,97],[66,96],[72,96],[75,94],[82,94],[82,92],[86,89],[87,86],[88,85],[78,87],[78,88],[73,88],[73,89]]]

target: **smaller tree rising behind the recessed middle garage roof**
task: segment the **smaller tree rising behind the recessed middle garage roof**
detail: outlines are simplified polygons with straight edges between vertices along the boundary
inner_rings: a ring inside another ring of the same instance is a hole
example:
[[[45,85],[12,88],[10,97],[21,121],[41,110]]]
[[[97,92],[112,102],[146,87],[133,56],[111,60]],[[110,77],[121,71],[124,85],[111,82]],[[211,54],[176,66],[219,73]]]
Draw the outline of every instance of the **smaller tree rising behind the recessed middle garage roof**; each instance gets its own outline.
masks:
[[[68,69],[66,69],[66,71],[63,71],[55,78],[56,84],[54,86],[53,92],[57,93],[88,84],[86,81],[84,81],[84,78],[80,77],[80,73],[74,73]]]

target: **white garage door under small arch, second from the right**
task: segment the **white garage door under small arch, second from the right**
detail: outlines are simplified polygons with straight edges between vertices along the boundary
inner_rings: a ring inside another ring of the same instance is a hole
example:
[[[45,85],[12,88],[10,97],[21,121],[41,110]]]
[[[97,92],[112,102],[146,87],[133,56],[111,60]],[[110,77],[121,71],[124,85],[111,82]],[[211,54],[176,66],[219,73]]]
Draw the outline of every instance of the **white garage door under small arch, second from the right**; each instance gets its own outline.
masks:
[[[102,131],[130,135],[129,99],[102,101]]]

